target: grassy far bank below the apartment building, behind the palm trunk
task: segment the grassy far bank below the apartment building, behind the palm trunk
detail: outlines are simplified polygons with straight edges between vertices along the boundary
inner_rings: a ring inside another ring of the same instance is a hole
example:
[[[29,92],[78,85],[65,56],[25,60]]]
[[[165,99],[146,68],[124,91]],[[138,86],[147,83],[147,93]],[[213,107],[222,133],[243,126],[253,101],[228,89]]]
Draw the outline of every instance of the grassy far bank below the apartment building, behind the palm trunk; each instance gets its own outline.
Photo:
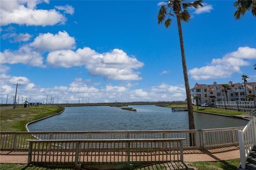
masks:
[[[167,107],[188,107],[187,105],[169,105]],[[223,108],[214,108],[214,107],[201,107],[198,106],[193,106],[194,111],[199,111],[199,112],[208,112],[208,113],[216,113],[216,114],[223,114],[223,115],[242,115],[245,112],[238,112],[234,110],[229,110],[229,109],[223,109]]]

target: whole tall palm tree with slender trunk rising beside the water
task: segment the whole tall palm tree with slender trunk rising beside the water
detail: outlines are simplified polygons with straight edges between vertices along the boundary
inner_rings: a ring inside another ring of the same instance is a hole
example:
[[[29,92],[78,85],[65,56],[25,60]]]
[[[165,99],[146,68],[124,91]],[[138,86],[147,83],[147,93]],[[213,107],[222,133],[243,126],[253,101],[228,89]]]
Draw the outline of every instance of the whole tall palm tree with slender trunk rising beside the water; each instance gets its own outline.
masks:
[[[157,19],[158,24],[164,22],[166,28],[171,25],[172,19],[171,16],[176,16],[177,25],[179,30],[179,38],[180,38],[180,50],[181,50],[181,61],[183,67],[186,95],[187,95],[187,104],[188,104],[188,121],[189,121],[189,129],[195,129],[194,115],[193,115],[193,106],[192,99],[190,95],[189,81],[188,81],[188,71],[185,57],[185,49],[183,43],[183,35],[181,28],[181,21],[188,22],[190,19],[190,14],[188,12],[189,7],[203,7],[202,0],[189,2],[184,0],[169,0],[162,4]]]

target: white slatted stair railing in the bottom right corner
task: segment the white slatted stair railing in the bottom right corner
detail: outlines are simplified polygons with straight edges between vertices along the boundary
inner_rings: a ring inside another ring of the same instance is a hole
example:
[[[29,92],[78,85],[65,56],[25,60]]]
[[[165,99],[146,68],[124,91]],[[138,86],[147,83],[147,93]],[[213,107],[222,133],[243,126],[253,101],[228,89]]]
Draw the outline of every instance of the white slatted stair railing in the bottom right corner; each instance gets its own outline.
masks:
[[[245,169],[246,160],[249,157],[253,147],[256,145],[256,125],[255,116],[247,123],[242,131],[238,131],[239,151],[241,167]]]

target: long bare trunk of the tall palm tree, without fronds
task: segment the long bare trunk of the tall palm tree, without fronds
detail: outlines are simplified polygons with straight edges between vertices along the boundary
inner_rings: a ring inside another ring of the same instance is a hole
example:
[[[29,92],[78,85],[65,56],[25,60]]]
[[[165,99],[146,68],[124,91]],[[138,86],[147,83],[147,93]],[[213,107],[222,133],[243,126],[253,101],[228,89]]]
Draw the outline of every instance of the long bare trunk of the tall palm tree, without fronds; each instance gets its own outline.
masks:
[[[190,95],[190,87],[188,82],[188,71],[187,71],[187,64],[186,64],[186,58],[185,58],[185,50],[184,50],[182,28],[181,28],[179,13],[176,13],[176,18],[177,18],[177,24],[178,24],[178,30],[179,30],[181,59],[182,59],[182,67],[183,67],[183,74],[184,74],[184,81],[185,81],[185,88],[186,88],[186,95],[187,95],[189,129],[195,129],[193,106],[192,106],[192,99]]]

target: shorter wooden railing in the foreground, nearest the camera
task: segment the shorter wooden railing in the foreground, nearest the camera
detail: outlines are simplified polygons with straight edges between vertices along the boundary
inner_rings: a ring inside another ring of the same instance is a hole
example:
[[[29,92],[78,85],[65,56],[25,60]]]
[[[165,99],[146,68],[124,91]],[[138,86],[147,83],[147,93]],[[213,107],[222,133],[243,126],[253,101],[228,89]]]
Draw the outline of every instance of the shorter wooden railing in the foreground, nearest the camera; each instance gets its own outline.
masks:
[[[81,166],[100,163],[183,162],[177,139],[27,140],[28,164]]]

